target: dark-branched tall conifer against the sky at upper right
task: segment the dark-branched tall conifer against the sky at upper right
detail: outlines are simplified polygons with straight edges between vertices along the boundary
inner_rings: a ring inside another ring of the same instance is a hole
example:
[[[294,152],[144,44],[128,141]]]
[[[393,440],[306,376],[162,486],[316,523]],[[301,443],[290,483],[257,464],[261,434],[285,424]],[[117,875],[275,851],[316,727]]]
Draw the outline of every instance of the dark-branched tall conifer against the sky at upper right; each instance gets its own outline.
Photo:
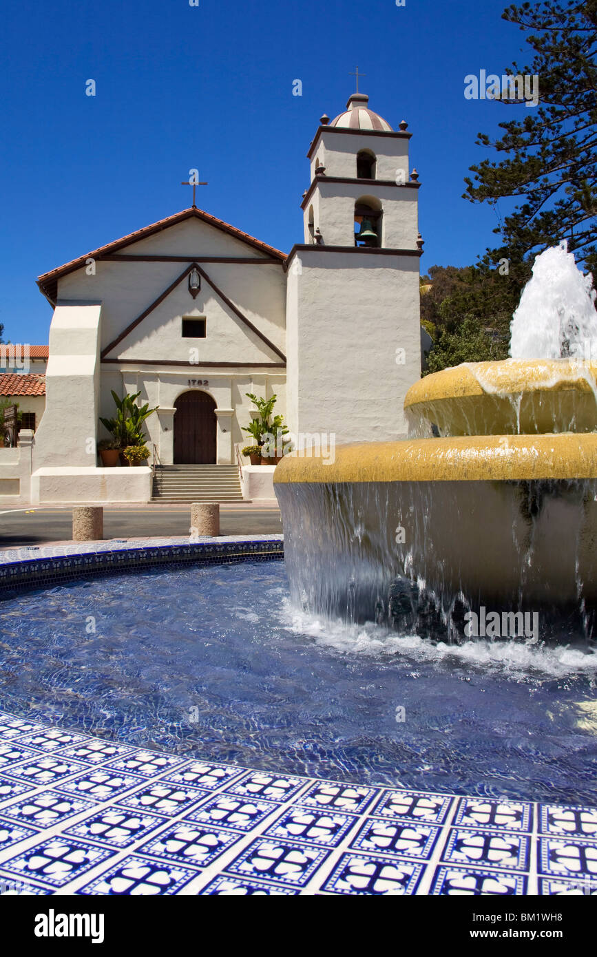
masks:
[[[495,141],[477,135],[477,145],[503,158],[470,167],[475,177],[465,179],[464,198],[518,203],[494,230],[503,245],[488,249],[483,262],[520,263],[567,239],[577,260],[597,271],[597,0],[523,3],[502,17],[527,33],[532,62],[508,72],[539,76],[540,105],[494,100],[518,115],[499,124]]]

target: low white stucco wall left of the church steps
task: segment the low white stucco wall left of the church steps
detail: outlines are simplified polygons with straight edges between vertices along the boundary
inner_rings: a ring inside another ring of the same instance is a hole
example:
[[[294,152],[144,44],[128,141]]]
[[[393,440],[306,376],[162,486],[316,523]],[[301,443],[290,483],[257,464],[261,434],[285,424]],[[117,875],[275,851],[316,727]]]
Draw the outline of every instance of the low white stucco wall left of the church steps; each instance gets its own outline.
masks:
[[[32,501],[95,504],[110,501],[150,501],[151,469],[56,467],[37,469],[32,476]]]

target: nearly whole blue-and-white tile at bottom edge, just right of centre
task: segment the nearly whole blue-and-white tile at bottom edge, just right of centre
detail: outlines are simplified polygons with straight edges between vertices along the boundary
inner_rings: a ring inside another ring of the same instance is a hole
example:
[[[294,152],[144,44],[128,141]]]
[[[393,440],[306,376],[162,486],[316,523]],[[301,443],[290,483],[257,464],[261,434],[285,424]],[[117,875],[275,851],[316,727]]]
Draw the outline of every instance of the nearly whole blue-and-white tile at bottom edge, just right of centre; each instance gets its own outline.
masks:
[[[414,894],[424,865],[415,861],[388,860],[370,854],[344,854],[322,891],[334,894],[360,894],[401,897]]]

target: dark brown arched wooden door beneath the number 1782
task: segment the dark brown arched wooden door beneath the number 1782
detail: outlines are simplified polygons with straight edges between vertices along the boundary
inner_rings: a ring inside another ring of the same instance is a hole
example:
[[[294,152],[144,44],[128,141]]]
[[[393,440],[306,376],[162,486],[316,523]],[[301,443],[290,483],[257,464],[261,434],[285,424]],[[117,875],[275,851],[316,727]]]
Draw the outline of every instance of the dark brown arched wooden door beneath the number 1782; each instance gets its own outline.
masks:
[[[217,420],[207,392],[190,391],[174,403],[174,464],[215,465]]]

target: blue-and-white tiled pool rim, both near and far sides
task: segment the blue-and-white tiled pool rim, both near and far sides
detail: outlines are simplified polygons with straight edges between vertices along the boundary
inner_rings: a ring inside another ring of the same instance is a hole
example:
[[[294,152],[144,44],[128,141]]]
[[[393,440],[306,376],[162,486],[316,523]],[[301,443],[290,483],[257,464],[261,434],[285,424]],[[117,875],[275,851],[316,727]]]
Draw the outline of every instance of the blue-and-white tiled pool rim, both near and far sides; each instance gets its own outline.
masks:
[[[282,554],[272,535],[11,549],[0,597]],[[0,712],[0,894],[597,897],[597,809],[275,775]]]

